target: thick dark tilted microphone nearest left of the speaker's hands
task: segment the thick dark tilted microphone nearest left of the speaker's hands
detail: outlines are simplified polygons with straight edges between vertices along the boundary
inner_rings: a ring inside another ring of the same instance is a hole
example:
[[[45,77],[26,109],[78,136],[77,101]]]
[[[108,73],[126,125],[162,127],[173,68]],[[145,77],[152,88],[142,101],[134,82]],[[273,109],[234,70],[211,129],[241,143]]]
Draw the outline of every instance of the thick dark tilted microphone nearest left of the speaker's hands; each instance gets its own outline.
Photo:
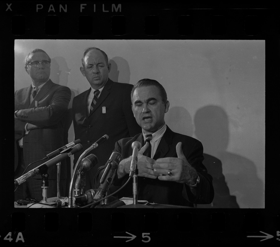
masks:
[[[118,169],[118,164],[122,159],[122,155],[118,152],[113,152],[106,162],[108,163],[101,179],[100,186],[97,189],[97,192],[93,198],[93,201],[98,201],[106,194],[106,191],[109,189],[110,185],[114,181],[114,177],[116,175],[116,170]]]

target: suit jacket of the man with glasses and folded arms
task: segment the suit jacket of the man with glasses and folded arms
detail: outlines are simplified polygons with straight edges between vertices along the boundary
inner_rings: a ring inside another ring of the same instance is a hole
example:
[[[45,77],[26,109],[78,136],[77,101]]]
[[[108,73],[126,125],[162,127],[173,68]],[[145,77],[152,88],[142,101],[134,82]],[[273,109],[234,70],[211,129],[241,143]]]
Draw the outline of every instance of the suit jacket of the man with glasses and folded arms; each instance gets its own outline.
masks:
[[[15,144],[18,146],[18,140],[23,137],[24,162],[26,166],[67,144],[63,140],[65,126],[63,117],[67,112],[71,98],[71,91],[68,87],[55,84],[51,80],[42,86],[30,104],[31,91],[32,86],[30,85],[15,92],[15,110],[24,109],[15,119]],[[35,107],[35,101],[38,102],[37,107]],[[33,129],[28,135],[24,135],[26,123],[37,125],[40,128]],[[15,157],[17,157],[17,153],[15,153]],[[43,164],[45,161],[47,159],[30,165],[27,171]],[[64,162],[62,161],[61,165],[61,179],[67,177],[67,167]],[[56,179],[56,165],[50,167],[48,173],[49,179]],[[41,178],[41,175],[37,175],[35,178]]]

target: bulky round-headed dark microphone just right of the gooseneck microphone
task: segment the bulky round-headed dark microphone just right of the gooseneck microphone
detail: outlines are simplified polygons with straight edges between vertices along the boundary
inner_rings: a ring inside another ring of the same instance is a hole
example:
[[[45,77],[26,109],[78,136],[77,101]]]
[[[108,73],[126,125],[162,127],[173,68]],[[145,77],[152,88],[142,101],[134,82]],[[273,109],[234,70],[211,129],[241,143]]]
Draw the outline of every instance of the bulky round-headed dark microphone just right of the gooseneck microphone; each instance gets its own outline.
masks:
[[[82,159],[80,164],[80,169],[77,171],[77,179],[75,182],[75,196],[81,195],[83,193],[83,188],[85,186],[85,171],[89,171],[98,163],[98,159],[94,154],[90,154]]]

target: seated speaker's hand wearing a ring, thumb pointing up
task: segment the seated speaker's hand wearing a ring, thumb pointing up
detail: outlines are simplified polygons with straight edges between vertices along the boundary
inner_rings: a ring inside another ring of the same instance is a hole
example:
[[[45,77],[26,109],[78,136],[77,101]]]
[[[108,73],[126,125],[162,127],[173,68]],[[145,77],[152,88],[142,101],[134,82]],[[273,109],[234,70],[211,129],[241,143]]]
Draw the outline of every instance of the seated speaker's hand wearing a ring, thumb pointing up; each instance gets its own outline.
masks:
[[[159,158],[153,165],[154,174],[158,175],[159,180],[174,181],[178,183],[187,183],[187,185],[196,184],[197,172],[189,164],[182,151],[182,142],[176,145],[177,157]],[[172,175],[168,175],[169,171]]]

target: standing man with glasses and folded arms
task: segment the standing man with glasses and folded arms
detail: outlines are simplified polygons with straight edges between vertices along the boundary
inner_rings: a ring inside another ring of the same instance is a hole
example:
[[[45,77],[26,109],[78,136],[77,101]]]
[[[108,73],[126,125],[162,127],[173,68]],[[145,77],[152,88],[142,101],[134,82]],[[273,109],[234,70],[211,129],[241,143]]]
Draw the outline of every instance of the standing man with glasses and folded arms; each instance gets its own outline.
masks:
[[[66,144],[63,117],[68,109],[71,91],[50,80],[50,62],[48,54],[41,49],[32,50],[25,58],[25,71],[30,75],[32,83],[15,92],[15,178],[43,164],[47,160],[39,160]],[[35,163],[28,166],[32,162]],[[59,191],[62,196],[67,196],[67,170],[70,171],[65,161],[61,161]],[[55,197],[57,167],[52,166],[47,172],[47,197]],[[15,200],[41,200],[41,185],[41,175],[28,179],[16,188]]]

